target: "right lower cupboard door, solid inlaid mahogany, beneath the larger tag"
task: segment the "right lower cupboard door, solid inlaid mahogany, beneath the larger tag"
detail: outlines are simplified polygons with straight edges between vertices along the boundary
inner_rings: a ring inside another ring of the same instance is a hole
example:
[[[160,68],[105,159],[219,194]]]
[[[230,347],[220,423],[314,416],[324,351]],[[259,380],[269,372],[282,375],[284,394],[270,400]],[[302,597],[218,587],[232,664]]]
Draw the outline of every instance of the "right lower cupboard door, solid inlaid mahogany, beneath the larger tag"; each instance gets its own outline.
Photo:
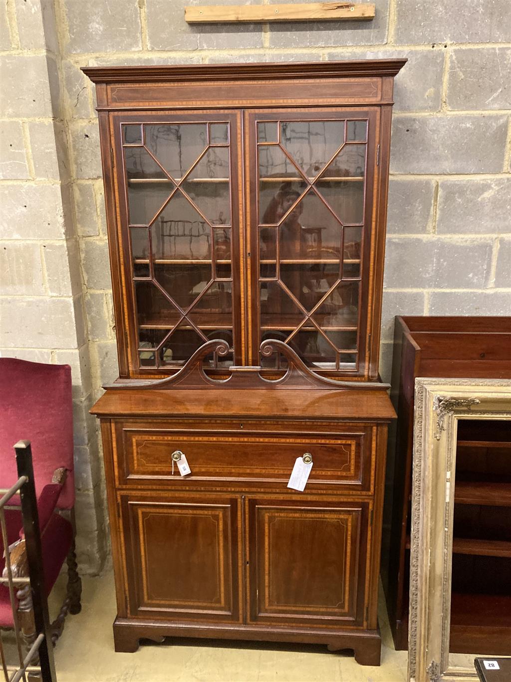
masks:
[[[249,500],[251,622],[362,625],[368,507]]]

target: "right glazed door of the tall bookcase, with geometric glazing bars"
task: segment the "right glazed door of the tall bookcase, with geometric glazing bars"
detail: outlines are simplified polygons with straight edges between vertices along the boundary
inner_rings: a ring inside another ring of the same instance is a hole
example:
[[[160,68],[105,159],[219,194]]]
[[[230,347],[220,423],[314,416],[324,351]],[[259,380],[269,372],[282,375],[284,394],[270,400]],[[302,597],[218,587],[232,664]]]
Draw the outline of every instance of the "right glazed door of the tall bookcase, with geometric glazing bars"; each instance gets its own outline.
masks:
[[[377,108],[247,113],[251,364],[367,376]],[[382,267],[382,264],[376,264]]]

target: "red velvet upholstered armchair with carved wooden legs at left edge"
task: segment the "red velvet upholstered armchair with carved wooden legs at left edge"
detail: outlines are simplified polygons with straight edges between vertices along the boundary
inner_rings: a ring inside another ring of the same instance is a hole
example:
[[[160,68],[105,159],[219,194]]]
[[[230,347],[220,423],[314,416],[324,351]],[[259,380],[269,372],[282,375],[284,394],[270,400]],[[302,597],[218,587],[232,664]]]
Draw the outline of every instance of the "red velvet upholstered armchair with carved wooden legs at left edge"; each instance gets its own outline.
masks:
[[[1,488],[10,488],[18,480],[13,445],[22,439],[31,441],[48,594],[67,560],[67,595],[59,617],[52,623],[55,643],[67,612],[80,612],[82,591],[74,546],[73,407],[69,365],[0,358]],[[20,509],[6,509],[5,521],[12,545],[22,537]],[[3,547],[0,547],[0,557],[3,557]],[[5,559],[0,559],[0,563],[3,570]],[[24,542],[12,549],[11,563],[14,576],[27,574]],[[30,594],[26,590],[18,591],[18,614],[30,647],[34,629]],[[12,627],[12,624],[9,593],[0,585],[0,627]]]

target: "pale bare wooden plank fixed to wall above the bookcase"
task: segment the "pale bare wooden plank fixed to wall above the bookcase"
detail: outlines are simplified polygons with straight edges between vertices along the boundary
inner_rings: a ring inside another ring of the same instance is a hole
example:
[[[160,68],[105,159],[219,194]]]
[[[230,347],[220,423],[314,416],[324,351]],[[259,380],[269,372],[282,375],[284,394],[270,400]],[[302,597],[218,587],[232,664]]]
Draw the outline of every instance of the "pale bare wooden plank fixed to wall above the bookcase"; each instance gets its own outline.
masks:
[[[287,5],[202,5],[185,7],[189,24],[270,21],[311,21],[318,19],[371,20],[375,5],[352,2],[313,2]]]

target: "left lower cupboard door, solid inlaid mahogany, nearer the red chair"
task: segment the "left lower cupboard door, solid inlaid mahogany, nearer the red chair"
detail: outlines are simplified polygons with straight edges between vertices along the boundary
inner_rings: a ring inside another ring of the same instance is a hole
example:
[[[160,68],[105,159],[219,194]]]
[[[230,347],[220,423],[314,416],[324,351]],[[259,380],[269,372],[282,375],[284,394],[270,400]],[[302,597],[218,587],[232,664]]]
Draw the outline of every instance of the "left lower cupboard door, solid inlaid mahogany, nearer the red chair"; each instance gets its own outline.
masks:
[[[238,500],[121,499],[129,614],[238,621]]]

